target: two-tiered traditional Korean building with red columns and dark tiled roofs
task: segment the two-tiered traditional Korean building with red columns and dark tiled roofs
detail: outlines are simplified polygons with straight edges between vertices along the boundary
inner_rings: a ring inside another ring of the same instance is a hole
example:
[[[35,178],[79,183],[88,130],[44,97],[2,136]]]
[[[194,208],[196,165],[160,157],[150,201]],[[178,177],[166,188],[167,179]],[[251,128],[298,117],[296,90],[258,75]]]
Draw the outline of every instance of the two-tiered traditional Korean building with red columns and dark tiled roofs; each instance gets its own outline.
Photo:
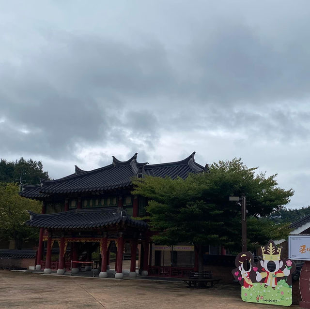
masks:
[[[41,214],[30,212],[27,221],[27,225],[40,229],[35,268],[44,268],[47,274],[57,269],[63,274],[70,269],[71,261],[90,261],[98,246],[101,278],[108,276],[111,251],[116,253],[115,278],[124,276],[124,252],[131,259],[129,276],[136,277],[137,248],[142,276],[182,277],[197,268],[197,256],[190,244],[171,248],[151,242],[147,223],[135,219],[145,215],[147,200],[131,194],[132,177],[185,179],[190,173],[201,173],[204,167],[195,162],[194,156],[195,152],[182,161],[161,164],[139,163],[137,153],[125,162],[113,156],[111,164],[92,171],[75,166],[74,174],[69,176],[23,185],[21,196],[42,201]],[[58,261],[51,260],[55,247],[59,248]],[[79,265],[73,263],[72,272],[78,270]]]

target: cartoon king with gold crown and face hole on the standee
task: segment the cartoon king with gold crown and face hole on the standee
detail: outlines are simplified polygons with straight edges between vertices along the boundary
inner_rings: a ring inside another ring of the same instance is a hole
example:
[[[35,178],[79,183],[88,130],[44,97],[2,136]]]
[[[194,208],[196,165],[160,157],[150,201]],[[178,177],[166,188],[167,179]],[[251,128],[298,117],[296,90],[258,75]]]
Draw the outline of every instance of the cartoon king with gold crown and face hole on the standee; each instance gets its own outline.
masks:
[[[265,284],[264,286],[271,286],[272,289],[275,290],[277,286],[277,279],[280,277],[289,276],[290,269],[280,269],[283,266],[283,261],[280,261],[282,247],[277,248],[272,240],[269,240],[268,245],[262,246],[261,249],[263,255],[263,260],[260,261],[262,272],[256,272],[256,280],[257,282],[260,282],[263,278],[265,278],[263,281]]]

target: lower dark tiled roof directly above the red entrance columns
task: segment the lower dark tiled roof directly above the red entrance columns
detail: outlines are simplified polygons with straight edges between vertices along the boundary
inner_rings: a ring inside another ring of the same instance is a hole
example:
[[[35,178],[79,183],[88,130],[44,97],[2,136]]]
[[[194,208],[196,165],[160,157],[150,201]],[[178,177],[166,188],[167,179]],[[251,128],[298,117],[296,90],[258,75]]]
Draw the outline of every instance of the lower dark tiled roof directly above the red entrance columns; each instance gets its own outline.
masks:
[[[42,215],[29,211],[31,219],[26,222],[29,226],[53,229],[97,228],[114,225],[124,221],[129,226],[147,229],[147,223],[121,216],[118,207],[100,209],[73,209],[66,212]]]

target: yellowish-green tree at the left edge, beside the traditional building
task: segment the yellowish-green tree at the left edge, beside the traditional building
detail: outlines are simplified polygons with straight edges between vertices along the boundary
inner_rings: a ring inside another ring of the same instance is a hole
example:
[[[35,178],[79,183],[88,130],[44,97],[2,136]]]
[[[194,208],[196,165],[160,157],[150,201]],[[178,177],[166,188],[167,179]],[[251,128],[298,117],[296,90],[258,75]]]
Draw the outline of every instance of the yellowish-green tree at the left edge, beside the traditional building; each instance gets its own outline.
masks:
[[[36,229],[25,225],[29,219],[27,210],[40,212],[41,203],[20,197],[16,183],[0,185],[0,239],[14,239],[16,249],[21,249],[25,240],[36,239]]]

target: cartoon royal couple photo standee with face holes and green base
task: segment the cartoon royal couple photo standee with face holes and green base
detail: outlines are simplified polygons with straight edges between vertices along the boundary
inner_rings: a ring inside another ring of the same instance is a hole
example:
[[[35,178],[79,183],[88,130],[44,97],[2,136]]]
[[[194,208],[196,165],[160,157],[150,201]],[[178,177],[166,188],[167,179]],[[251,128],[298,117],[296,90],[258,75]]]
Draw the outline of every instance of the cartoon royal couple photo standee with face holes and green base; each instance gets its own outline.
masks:
[[[282,251],[282,247],[277,247],[273,240],[269,240],[266,246],[260,247],[257,264],[249,251],[236,256],[237,268],[233,269],[232,273],[241,285],[243,301],[292,305],[292,274],[296,266],[288,258],[281,259]]]

